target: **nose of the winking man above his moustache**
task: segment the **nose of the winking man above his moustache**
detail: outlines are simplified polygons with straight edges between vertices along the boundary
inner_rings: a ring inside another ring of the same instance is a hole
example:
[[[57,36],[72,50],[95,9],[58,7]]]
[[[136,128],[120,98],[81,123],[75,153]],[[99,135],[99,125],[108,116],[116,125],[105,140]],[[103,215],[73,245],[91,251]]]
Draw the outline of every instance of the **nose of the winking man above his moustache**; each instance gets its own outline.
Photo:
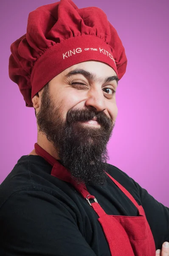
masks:
[[[87,93],[85,105],[88,108],[94,108],[98,112],[104,111],[106,109],[106,102],[102,89],[90,89]]]

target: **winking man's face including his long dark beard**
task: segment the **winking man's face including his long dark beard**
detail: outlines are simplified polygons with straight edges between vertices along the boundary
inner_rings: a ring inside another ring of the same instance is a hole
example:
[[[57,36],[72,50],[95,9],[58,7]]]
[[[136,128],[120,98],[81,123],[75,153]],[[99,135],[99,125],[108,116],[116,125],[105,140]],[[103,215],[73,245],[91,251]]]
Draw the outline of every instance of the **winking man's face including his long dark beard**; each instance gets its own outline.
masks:
[[[106,182],[107,143],[115,126],[117,75],[107,64],[85,61],[42,90],[37,125],[77,182]]]

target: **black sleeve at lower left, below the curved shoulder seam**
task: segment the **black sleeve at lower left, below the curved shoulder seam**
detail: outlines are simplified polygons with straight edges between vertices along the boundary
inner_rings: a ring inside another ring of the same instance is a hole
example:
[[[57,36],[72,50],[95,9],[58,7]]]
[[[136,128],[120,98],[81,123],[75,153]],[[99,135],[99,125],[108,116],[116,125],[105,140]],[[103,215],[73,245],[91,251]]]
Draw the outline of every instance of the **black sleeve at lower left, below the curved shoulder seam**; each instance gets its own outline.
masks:
[[[14,193],[1,207],[0,255],[96,256],[70,209],[36,189]]]

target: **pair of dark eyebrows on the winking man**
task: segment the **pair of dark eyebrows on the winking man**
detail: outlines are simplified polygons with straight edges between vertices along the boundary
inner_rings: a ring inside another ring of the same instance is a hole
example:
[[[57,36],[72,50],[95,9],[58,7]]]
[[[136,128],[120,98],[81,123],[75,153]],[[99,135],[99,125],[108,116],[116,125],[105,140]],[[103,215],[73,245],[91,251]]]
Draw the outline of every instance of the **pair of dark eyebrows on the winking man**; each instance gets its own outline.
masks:
[[[90,73],[90,72],[88,72],[86,70],[83,70],[83,69],[74,69],[74,70],[70,71],[68,74],[66,74],[65,77],[70,77],[70,76],[77,75],[77,74],[81,74],[81,75],[85,76],[86,78],[88,78],[90,80],[100,81],[100,82],[104,82],[104,83],[111,82],[111,81],[115,80],[117,82],[117,85],[118,85],[118,80],[119,79],[118,79],[117,76],[109,76],[109,77],[106,77],[105,79],[102,79],[102,78],[97,79],[96,74]]]

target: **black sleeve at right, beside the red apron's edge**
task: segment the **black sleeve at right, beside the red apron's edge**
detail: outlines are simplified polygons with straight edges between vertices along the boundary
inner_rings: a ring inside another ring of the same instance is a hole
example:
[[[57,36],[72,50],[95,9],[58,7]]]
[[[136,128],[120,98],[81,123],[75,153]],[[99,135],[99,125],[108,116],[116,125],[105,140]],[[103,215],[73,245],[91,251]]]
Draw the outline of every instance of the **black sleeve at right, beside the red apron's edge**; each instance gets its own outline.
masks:
[[[152,230],[156,249],[161,249],[163,242],[169,242],[169,208],[155,200],[146,189],[143,189],[133,179],[132,181],[139,191],[141,205]]]

